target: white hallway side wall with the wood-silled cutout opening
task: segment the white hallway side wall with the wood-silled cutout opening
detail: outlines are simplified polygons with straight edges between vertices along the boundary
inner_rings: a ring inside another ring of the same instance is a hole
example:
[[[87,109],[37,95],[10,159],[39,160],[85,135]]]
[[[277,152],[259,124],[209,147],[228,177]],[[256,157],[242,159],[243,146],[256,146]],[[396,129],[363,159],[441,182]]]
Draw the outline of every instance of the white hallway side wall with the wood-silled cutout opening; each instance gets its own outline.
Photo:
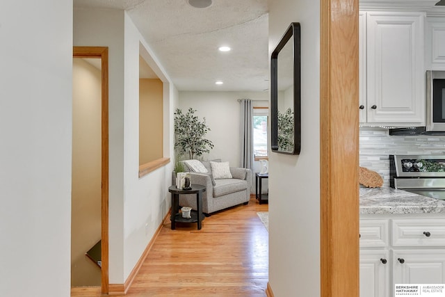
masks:
[[[149,66],[164,84],[164,131],[170,131],[175,101],[170,79],[159,67],[149,45],[125,13],[124,18],[124,280],[127,280],[150,239],[170,209],[168,186],[172,180],[172,162],[138,178],[139,168],[139,55],[147,58]],[[142,51],[142,52],[140,52]],[[157,64],[154,65],[153,63]],[[173,156],[170,139],[164,134],[164,156]]]

